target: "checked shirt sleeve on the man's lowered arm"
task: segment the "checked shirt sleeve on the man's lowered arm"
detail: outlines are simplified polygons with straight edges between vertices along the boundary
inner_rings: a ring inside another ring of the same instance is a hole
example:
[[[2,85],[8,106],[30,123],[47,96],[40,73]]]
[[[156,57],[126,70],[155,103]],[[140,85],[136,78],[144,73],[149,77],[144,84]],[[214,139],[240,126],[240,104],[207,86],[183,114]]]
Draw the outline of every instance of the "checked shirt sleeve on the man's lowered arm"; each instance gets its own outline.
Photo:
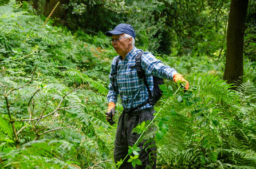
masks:
[[[108,85],[108,95],[107,95],[108,102],[114,102],[115,104],[117,102],[118,92],[114,91],[114,87],[111,84],[112,81],[113,81],[113,78],[115,79],[116,90],[118,91],[119,88],[117,86],[116,75],[112,76],[111,74],[116,71],[116,59],[117,59],[117,57],[115,57],[113,59],[112,63],[111,63],[111,71],[110,71],[110,74],[109,74],[109,81],[110,81],[110,83]]]

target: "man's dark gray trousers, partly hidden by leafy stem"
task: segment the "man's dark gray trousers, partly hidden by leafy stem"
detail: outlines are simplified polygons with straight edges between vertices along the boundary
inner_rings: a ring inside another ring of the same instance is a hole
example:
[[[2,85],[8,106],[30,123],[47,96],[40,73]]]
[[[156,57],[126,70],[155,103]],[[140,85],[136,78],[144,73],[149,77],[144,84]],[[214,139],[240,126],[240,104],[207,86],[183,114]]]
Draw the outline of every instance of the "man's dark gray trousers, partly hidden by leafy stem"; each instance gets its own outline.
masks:
[[[143,121],[147,120],[152,120],[153,119],[153,113],[155,113],[154,108],[147,108],[146,110],[143,110],[139,116],[139,123],[142,123]],[[128,115],[123,111],[123,113],[119,117],[119,121],[117,124],[117,130],[116,130],[116,139],[115,139],[115,148],[114,148],[114,159],[115,163],[117,161],[120,161],[121,159],[124,160],[125,156],[128,154],[128,146],[133,146],[137,139],[139,139],[140,134],[133,134],[132,130],[135,128],[135,121],[136,121],[136,116],[133,115]],[[145,126],[146,127],[146,126]],[[151,144],[154,144],[155,142],[148,143],[144,146],[143,144],[145,143],[139,143],[138,147],[140,148],[141,151],[139,151],[139,159],[141,165],[136,164],[136,169],[145,169],[145,168],[156,168],[156,146],[147,148]],[[145,151],[147,148],[147,151]],[[133,155],[133,154],[132,154]],[[129,159],[129,155],[127,158],[124,160],[123,164],[119,167],[119,169],[133,169],[132,163],[127,162]]]

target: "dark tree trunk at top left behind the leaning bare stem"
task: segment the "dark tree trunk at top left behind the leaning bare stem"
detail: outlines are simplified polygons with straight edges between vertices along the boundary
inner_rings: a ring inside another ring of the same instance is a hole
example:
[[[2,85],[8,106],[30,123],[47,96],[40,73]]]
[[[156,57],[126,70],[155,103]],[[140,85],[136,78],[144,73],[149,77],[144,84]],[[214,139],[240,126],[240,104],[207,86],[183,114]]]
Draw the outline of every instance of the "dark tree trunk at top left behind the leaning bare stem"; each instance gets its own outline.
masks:
[[[50,12],[54,9],[56,4],[60,2],[57,6],[57,8],[54,10],[51,18],[53,19],[59,19],[55,20],[54,24],[60,23],[61,25],[65,25],[66,17],[67,17],[67,11],[63,9],[63,5],[69,3],[69,0],[45,0],[45,17],[48,17]]]

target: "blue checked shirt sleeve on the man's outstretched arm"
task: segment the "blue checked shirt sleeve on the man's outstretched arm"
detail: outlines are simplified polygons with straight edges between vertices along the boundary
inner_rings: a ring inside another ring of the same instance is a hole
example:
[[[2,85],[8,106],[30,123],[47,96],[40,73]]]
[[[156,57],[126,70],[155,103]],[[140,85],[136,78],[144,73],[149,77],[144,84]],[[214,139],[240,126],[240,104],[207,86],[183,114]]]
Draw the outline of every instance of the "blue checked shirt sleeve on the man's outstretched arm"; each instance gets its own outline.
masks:
[[[177,73],[175,69],[164,65],[149,52],[145,52],[141,55],[141,67],[146,75],[153,75],[159,78],[170,79],[172,81],[174,79],[174,74]]]

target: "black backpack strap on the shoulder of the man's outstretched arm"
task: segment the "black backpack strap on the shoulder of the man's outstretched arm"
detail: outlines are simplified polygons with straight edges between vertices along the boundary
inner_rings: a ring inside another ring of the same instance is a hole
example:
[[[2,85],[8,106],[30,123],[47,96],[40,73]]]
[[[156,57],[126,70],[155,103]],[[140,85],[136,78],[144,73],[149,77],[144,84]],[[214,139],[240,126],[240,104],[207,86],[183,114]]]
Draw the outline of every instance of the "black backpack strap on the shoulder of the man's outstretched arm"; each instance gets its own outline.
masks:
[[[146,75],[145,75],[145,73],[142,69],[142,66],[141,66],[141,55],[143,53],[144,53],[144,51],[141,51],[139,54],[136,55],[136,58],[135,58],[136,70],[137,70],[138,77],[140,79],[143,79],[143,82],[144,82],[145,86],[147,87],[149,97],[152,98],[152,94],[151,94],[150,88],[148,86],[147,79],[145,78]]]

